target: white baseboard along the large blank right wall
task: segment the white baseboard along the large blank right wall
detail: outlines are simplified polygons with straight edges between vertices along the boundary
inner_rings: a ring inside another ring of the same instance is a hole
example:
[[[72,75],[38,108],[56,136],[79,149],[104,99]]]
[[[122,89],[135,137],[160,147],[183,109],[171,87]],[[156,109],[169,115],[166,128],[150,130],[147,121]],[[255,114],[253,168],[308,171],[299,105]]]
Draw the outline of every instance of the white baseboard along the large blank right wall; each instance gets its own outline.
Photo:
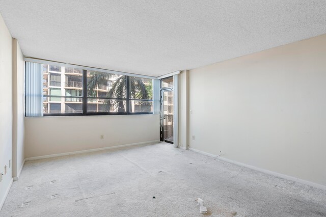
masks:
[[[192,151],[195,151],[195,152],[198,152],[198,153],[201,153],[201,154],[210,156],[210,157],[216,157],[216,155],[213,155],[213,154],[210,154],[210,153],[207,153],[207,152],[204,152],[204,151],[200,151],[200,150],[197,150],[197,149],[194,149],[194,148],[189,148],[189,150],[192,150]],[[325,185],[322,185],[322,184],[318,184],[318,183],[315,183],[315,182],[311,182],[311,181],[307,181],[307,180],[295,178],[293,176],[288,176],[288,175],[285,175],[285,174],[281,174],[281,173],[277,173],[277,172],[265,170],[265,169],[258,168],[258,167],[255,167],[255,166],[251,166],[251,165],[248,165],[248,164],[243,164],[241,162],[238,162],[238,161],[235,161],[235,160],[230,160],[228,158],[221,157],[221,156],[219,156],[218,159],[221,159],[223,161],[230,162],[232,164],[236,164],[236,165],[239,165],[239,166],[242,166],[242,167],[247,167],[247,168],[250,168],[252,170],[256,170],[256,171],[262,172],[262,173],[266,173],[268,175],[277,176],[277,177],[280,177],[280,178],[283,178],[283,179],[287,179],[287,180],[290,180],[290,181],[299,182],[299,183],[306,184],[306,185],[309,185],[309,186],[312,186],[312,187],[317,187],[317,188],[326,190],[326,186]]]

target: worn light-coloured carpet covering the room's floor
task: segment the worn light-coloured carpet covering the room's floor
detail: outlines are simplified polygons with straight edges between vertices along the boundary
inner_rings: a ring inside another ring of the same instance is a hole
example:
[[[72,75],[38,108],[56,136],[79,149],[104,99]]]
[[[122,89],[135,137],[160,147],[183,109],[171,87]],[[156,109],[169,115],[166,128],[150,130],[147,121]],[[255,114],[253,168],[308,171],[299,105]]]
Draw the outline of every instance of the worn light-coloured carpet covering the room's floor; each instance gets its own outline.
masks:
[[[0,216],[205,216],[197,198],[211,216],[326,216],[326,191],[168,143],[26,161]]]

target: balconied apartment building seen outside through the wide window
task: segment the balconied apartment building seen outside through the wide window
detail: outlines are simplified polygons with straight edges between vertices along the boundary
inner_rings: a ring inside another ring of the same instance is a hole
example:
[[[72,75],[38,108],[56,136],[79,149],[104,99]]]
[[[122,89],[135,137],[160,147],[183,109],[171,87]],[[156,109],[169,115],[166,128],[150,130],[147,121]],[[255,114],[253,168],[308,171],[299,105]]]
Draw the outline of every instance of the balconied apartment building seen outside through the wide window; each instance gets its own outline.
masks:
[[[92,71],[87,71],[87,84],[92,76]],[[113,84],[119,78],[117,76],[108,76],[105,84],[96,84],[88,96],[107,97],[107,92],[113,87]],[[121,75],[123,76],[123,75]],[[143,79],[142,82],[152,91],[151,79]],[[83,113],[83,70],[64,66],[54,66],[43,64],[43,113]],[[107,100],[101,98],[88,98],[87,111],[90,113],[107,112]],[[124,104],[125,106],[125,104]],[[144,110],[142,101],[131,100],[130,112],[139,112]],[[152,103],[149,103],[146,111],[152,112]],[[118,112],[115,108],[114,111]]]

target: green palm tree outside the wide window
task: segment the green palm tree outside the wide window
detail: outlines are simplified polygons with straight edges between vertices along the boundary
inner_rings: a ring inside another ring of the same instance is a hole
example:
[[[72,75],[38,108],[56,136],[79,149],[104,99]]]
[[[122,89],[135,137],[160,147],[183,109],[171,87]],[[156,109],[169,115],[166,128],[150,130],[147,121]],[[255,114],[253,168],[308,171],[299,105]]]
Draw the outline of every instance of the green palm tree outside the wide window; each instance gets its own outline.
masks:
[[[111,85],[110,90],[106,92],[105,97],[115,98],[105,100],[105,112],[118,111],[125,112],[124,101],[121,99],[126,98],[126,77],[118,74],[110,74],[104,72],[90,71],[90,77],[87,82],[88,95],[99,97],[99,89],[101,86]],[[111,83],[111,84],[109,84]],[[144,83],[144,78],[129,76],[131,99],[151,99],[152,98],[152,85]],[[140,101],[140,111],[146,109],[150,105],[148,101]],[[98,111],[98,104],[97,104]]]

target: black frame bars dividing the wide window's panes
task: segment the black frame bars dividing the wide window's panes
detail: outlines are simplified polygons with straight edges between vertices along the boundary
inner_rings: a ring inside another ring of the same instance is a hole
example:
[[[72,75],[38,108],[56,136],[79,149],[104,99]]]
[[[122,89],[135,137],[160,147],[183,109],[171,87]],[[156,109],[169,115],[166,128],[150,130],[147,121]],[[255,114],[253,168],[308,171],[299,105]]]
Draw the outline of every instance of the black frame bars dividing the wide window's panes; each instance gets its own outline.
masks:
[[[131,99],[130,98],[130,84],[129,84],[129,75],[125,76],[126,80],[126,98],[111,98],[111,97],[89,97],[87,96],[87,70],[83,69],[83,96],[52,96],[52,95],[43,95],[43,97],[61,97],[61,98],[81,98],[82,99],[82,113],[49,113],[43,114],[46,116],[94,116],[94,115],[151,115],[153,112],[130,112],[130,101],[150,101],[154,106],[154,99]],[[137,75],[134,75],[137,77]],[[152,79],[153,80],[153,79]],[[125,112],[88,112],[88,99],[114,99],[114,100],[126,100],[126,111]]]

